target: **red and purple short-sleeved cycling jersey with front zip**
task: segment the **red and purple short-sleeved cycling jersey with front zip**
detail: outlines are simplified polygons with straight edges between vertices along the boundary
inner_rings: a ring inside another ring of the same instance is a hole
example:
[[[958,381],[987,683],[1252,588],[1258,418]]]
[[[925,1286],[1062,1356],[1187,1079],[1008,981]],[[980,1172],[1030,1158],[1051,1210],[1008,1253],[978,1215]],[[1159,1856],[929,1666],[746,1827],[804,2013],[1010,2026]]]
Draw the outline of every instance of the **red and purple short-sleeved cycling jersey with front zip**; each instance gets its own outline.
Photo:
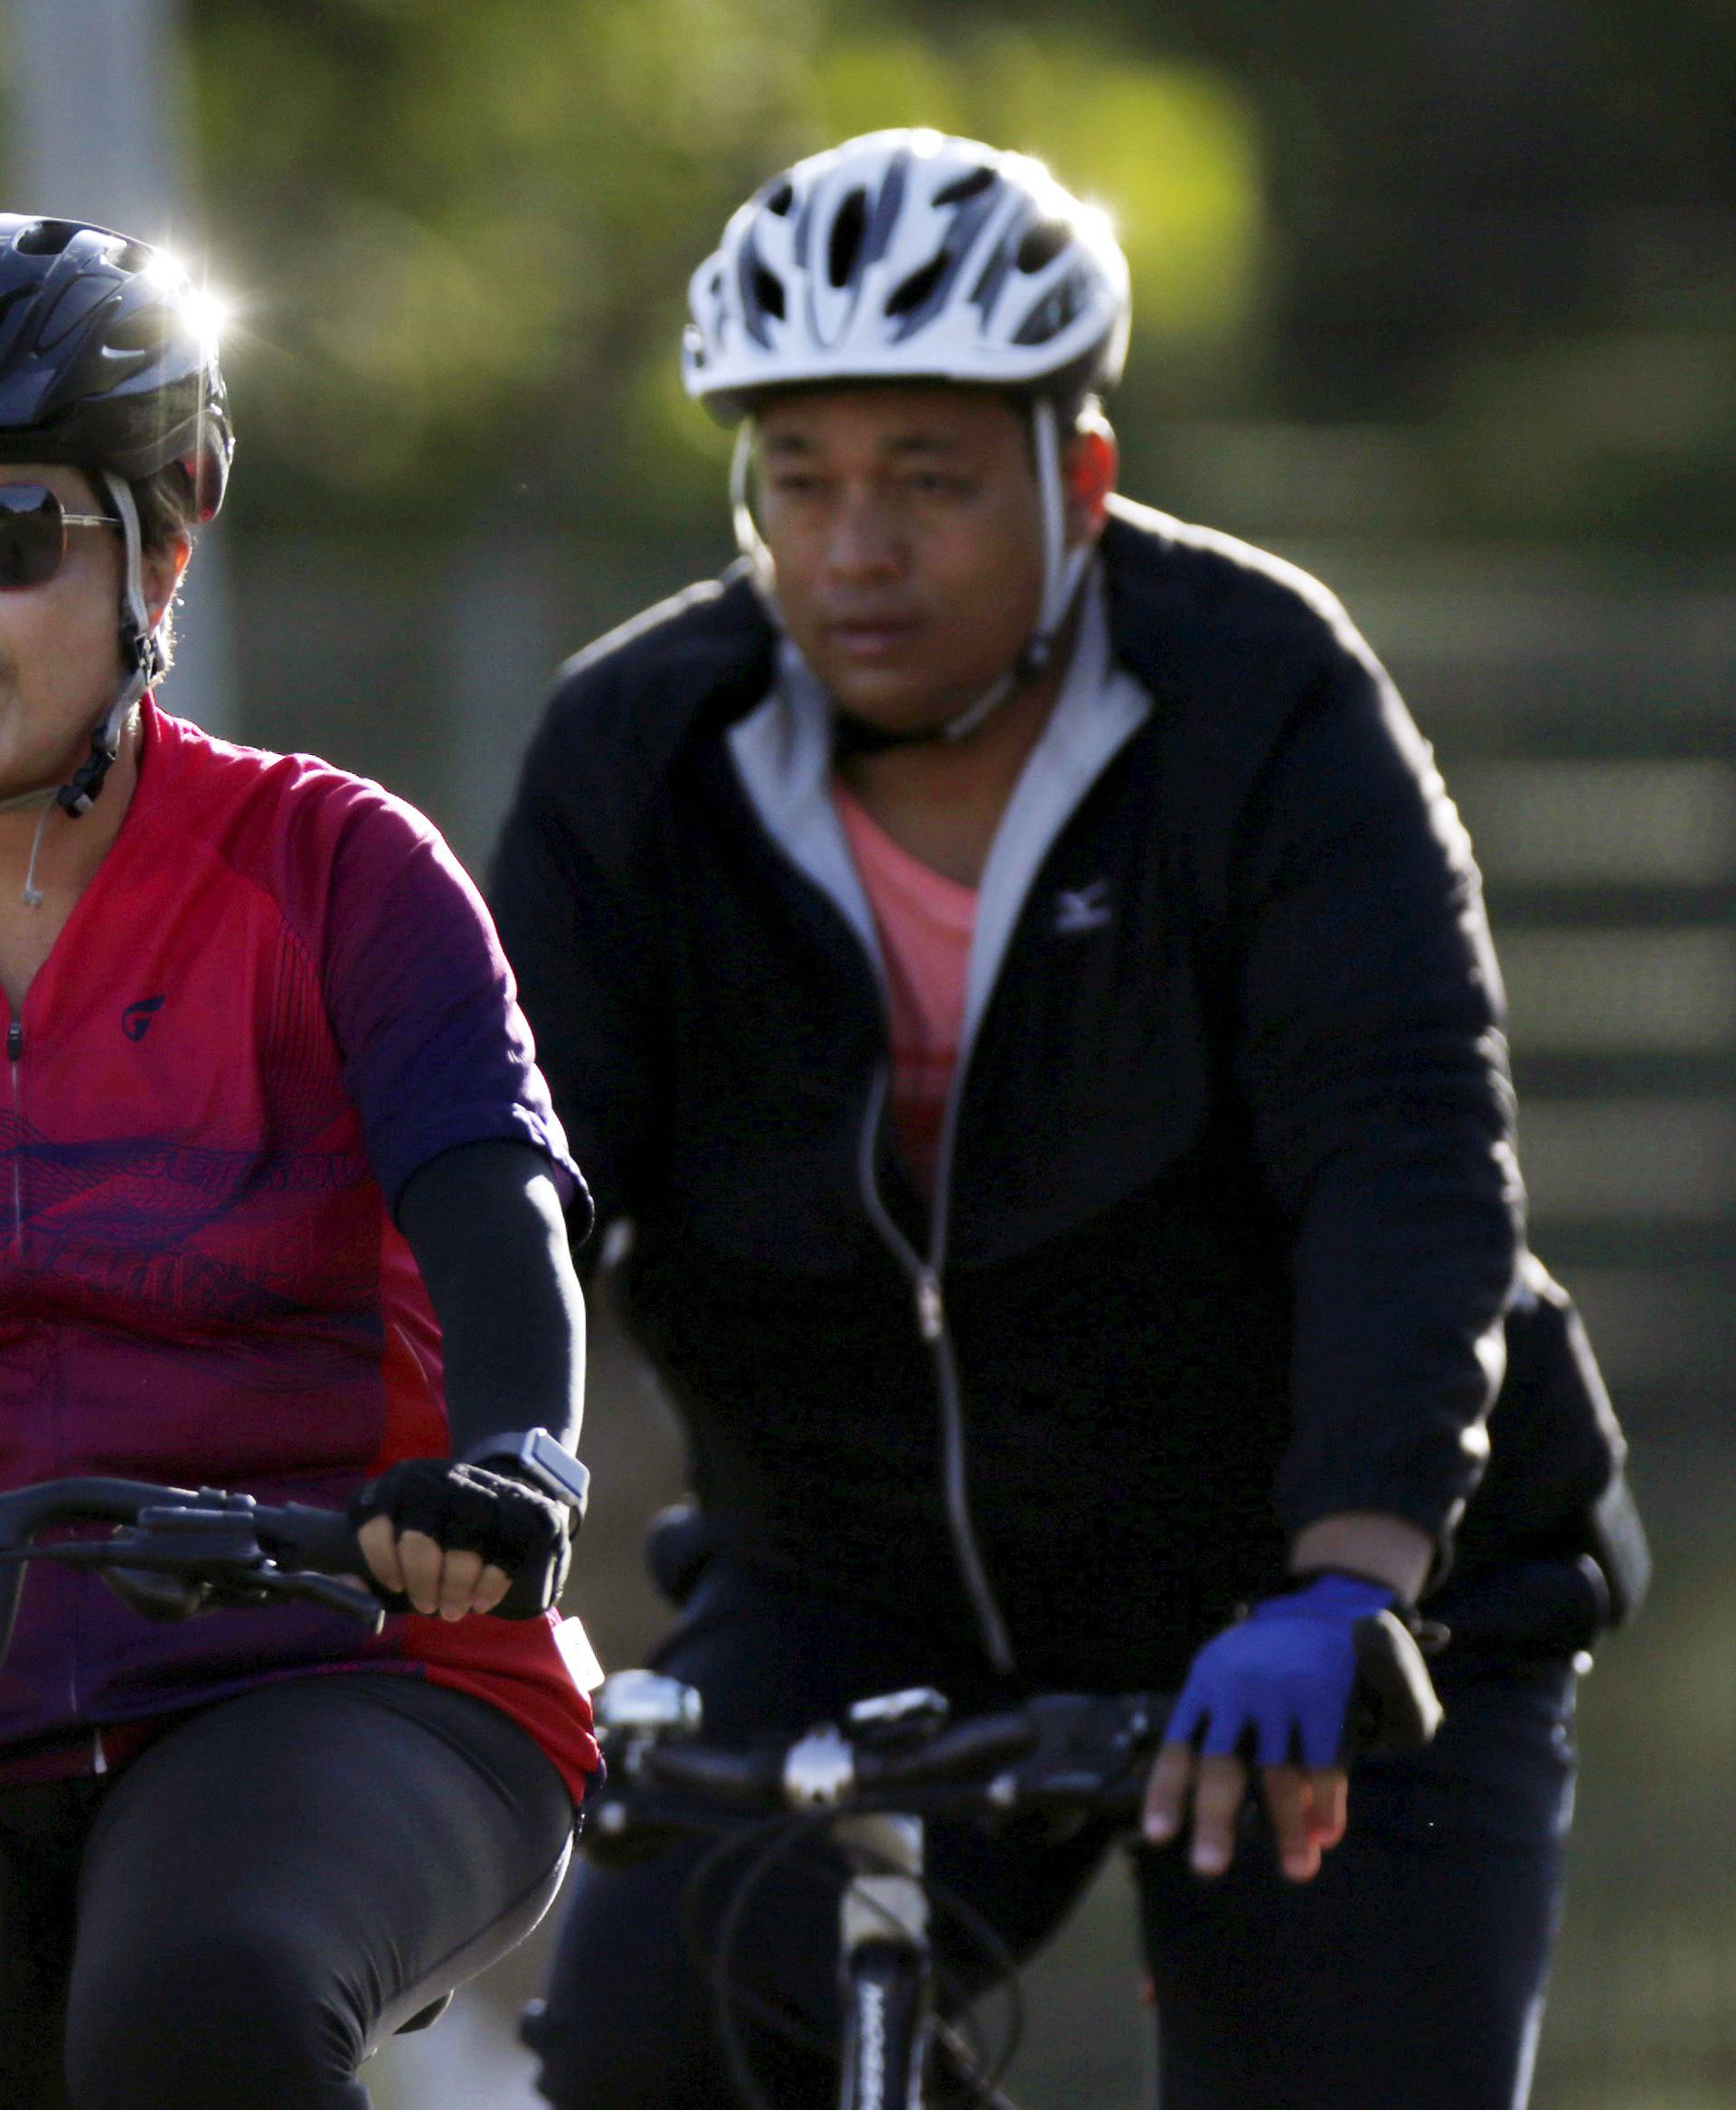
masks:
[[[127,821],[19,1017],[0,998],[0,1485],[67,1473],[342,1507],[447,1450],[441,1340],[390,1209],[498,1137],[578,1175],[487,909],[378,785],[146,701]],[[133,1724],[310,1671],[475,1692],[578,1794],[591,1711],[553,1616],[312,1606],[158,1627],[32,1570],[0,1781],[101,1770]]]

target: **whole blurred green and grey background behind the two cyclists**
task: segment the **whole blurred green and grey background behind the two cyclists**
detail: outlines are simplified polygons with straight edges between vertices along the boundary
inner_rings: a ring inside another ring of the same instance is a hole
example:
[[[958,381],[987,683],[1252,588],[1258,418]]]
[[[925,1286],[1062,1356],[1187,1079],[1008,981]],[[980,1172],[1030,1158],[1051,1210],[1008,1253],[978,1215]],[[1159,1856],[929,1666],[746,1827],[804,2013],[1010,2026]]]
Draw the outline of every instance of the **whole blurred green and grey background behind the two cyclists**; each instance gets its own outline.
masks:
[[[6,209],[167,234],[232,302],[171,707],[475,867],[555,663],[728,557],[675,361],[728,211],[905,122],[1112,207],[1124,487],[1320,572],[1436,743],[1536,1243],[1637,1447],[1658,1589],[1584,1690],[1540,2110],[1736,2099],[1732,108],[1730,0],[0,0]],[[622,1665],[679,1456],[601,1336],[578,1597]],[[527,2110],[538,1969],[384,2053],[382,2110]],[[1031,2004],[1025,2097],[1133,2110],[1116,1872]]]

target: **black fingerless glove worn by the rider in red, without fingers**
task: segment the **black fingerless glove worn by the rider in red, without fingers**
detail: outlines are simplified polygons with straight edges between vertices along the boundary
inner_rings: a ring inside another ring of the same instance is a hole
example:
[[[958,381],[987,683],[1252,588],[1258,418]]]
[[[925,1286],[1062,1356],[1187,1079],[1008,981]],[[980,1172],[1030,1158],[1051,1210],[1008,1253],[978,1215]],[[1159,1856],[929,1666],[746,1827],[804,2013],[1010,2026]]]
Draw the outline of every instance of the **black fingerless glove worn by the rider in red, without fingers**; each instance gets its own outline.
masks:
[[[572,1555],[565,1504],[456,1458],[405,1458],[350,1496],[350,1523],[361,1530],[388,1517],[397,1532],[424,1532],[445,1553],[479,1553],[513,1578],[500,1618],[534,1618],[561,1595]]]

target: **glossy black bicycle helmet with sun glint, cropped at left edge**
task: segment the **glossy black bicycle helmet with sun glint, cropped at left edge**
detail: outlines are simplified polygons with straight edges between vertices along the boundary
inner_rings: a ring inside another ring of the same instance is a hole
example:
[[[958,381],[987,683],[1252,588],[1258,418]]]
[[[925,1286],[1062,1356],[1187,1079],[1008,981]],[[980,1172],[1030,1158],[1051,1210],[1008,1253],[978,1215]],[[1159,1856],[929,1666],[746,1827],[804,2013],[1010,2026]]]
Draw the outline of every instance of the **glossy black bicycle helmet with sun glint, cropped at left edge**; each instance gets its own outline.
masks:
[[[129,483],[179,462],[209,521],[232,454],[215,333],[181,266],[112,228],[0,213],[0,460]]]

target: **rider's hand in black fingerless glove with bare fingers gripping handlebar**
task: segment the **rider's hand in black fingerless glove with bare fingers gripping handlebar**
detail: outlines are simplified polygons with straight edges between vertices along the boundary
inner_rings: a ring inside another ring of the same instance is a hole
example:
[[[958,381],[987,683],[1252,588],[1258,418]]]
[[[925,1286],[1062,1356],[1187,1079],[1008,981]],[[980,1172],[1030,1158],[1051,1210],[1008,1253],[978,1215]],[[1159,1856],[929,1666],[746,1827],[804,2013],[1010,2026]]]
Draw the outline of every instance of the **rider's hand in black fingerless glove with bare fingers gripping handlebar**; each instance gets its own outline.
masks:
[[[416,1612],[491,1612],[529,1566],[567,1568],[567,1513],[508,1473],[451,1458],[407,1458],[350,1500],[356,1545],[382,1589]]]

